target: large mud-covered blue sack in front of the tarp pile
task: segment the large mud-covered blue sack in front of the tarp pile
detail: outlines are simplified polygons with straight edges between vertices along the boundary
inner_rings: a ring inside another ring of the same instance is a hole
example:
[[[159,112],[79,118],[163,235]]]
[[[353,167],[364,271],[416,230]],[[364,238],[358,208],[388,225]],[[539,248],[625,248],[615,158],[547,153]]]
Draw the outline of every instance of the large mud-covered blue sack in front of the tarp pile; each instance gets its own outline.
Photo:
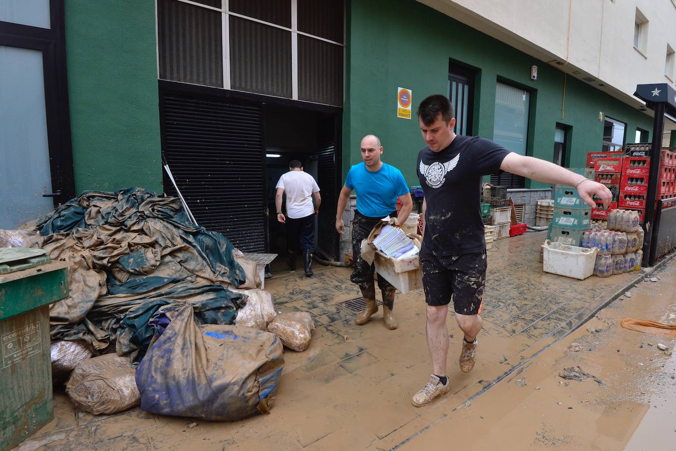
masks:
[[[157,335],[136,373],[141,410],[218,421],[270,412],[284,367],[276,335],[197,325],[189,304],[164,306],[150,323]]]

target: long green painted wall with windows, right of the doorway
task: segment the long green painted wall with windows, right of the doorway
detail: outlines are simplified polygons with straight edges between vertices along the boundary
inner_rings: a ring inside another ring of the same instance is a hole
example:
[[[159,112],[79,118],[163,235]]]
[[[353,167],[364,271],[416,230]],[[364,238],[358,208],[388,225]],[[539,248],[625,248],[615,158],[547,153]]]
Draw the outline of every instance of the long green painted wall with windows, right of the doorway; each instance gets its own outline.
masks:
[[[601,149],[600,111],[627,122],[629,143],[634,141],[637,127],[652,130],[650,116],[570,76],[562,116],[562,72],[421,3],[352,0],[347,9],[343,177],[350,165],[361,161],[361,138],[374,133],[385,147],[383,160],[400,168],[410,185],[419,184],[415,163],[425,142],[415,118],[397,118],[397,87],[412,89],[415,116],[418,103],[427,95],[448,95],[450,59],[480,70],[475,135],[493,137],[498,78],[531,91],[528,155],[552,161],[554,128],[559,122],[572,127],[569,166],[585,166],[587,152]],[[533,64],[538,67],[535,81],[530,79]],[[545,186],[538,182],[527,185]]]

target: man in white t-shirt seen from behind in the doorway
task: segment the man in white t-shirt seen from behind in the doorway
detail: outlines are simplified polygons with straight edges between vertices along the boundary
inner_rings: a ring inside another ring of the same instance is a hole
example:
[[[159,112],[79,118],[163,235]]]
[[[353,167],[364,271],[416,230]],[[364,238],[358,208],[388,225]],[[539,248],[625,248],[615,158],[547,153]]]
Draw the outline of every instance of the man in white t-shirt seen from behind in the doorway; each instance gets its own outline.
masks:
[[[319,213],[322,198],[312,176],[303,171],[298,160],[289,163],[289,172],[279,178],[274,203],[277,220],[287,224],[287,246],[291,270],[295,270],[296,250],[300,245],[305,260],[305,275],[312,276],[312,251],[314,251],[314,217]],[[282,195],[287,194],[287,217],[282,213]],[[314,206],[312,206],[314,197]]]

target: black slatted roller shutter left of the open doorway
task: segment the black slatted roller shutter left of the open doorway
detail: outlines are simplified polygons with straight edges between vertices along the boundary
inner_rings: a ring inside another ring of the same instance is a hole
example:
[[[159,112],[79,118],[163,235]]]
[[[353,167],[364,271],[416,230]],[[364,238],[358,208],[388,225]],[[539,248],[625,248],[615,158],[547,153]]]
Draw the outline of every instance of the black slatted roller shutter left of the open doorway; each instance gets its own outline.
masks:
[[[266,252],[260,105],[161,91],[164,157],[199,225]],[[168,179],[165,191],[175,195]]]

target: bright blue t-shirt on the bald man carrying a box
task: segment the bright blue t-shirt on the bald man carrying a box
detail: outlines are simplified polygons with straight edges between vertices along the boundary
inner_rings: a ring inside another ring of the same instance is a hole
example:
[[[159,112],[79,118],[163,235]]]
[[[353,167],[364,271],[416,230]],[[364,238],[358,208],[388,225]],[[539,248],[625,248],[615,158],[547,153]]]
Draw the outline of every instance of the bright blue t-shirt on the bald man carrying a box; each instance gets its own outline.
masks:
[[[409,193],[402,171],[387,163],[375,171],[361,162],[349,168],[345,186],[357,191],[357,210],[364,216],[383,218],[397,209],[397,197]]]

